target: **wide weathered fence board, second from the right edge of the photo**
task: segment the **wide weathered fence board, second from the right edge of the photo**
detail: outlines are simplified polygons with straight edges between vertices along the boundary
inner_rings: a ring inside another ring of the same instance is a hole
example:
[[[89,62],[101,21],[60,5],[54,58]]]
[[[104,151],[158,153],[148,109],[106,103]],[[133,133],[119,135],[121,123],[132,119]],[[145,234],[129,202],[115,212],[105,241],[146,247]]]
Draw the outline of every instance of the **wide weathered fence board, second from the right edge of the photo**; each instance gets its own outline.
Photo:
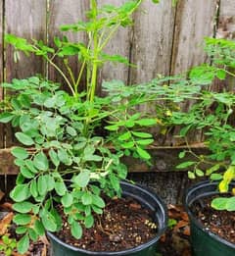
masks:
[[[216,8],[216,0],[178,1],[171,74],[186,72],[207,61],[203,42],[206,36],[213,35]]]

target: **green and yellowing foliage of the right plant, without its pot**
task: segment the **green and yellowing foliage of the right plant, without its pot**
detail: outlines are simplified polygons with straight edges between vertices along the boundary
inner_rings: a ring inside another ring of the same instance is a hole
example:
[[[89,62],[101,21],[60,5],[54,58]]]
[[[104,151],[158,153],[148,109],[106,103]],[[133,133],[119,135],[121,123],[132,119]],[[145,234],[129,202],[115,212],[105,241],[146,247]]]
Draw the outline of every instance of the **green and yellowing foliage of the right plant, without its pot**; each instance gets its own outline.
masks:
[[[206,38],[205,49],[212,64],[194,68],[189,75],[193,80],[210,84],[214,78],[224,80],[235,77],[234,41]],[[231,181],[235,180],[234,110],[234,93],[223,88],[220,92],[204,89],[187,113],[172,113],[172,123],[182,126],[179,136],[185,137],[187,142],[187,134],[191,130],[202,130],[205,144],[211,151],[208,155],[196,155],[191,149],[185,150],[179,157],[182,159],[190,153],[195,161],[183,162],[177,168],[189,169],[190,179],[206,175],[212,180],[218,180],[220,192],[228,192]],[[202,164],[208,166],[205,172],[201,170]],[[212,201],[211,206],[217,210],[234,211],[234,197],[219,197]]]

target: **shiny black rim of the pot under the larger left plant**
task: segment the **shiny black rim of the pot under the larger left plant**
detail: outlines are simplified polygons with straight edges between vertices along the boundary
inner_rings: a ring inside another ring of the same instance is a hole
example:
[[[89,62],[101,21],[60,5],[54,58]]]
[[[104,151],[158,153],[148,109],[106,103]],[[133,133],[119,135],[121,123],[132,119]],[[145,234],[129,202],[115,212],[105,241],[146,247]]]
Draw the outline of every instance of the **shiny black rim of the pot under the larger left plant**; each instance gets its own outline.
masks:
[[[63,246],[75,251],[75,252],[81,252],[81,253],[86,253],[86,254],[89,254],[89,255],[127,255],[129,253],[135,253],[135,252],[138,252],[140,250],[143,250],[145,248],[148,248],[150,246],[152,246],[154,243],[156,243],[161,235],[164,233],[164,231],[167,229],[167,209],[166,209],[166,206],[164,205],[164,201],[157,195],[157,193],[145,186],[145,185],[140,185],[140,184],[133,184],[133,183],[130,183],[130,182],[127,182],[127,181],[121,181],[120,182],[121,184],[124,184],[124,185],[128,185],[128,186],[132,186],[132,187],[139,187],[141,189],[144,189],[145,192],[151,196],[152,198],[155,198],[155,200],[158,202],[159,204],[159,207],[160,207],[160,212],[162,213],[162,215],[164,216],[164,222],[163,222],[163,227],[162,229],[158,230],[156,236],[150,240],[148,240],[147,242],[143,243],[143,244],[140,244],[136,247],[133,247],[133,248],[130,248],[130,249],[126,249],[126,250],[121,250],[121,251],[114,251],[114,252],[108,252],[108,251],[89,251],[89,250],[85,250],[85,249],[82,249],[82,248],[78,248],[78,247],[75,247],[75,246],[72,246],[71,244],[68,244],[66,242],[64,242],[63,240],[59,239],[54,233],[50,232],[50,231],[46,231],[47,232],[47,235],[51,238],[53,238],[54,240],[56,240],[56,242],[62,244]]]

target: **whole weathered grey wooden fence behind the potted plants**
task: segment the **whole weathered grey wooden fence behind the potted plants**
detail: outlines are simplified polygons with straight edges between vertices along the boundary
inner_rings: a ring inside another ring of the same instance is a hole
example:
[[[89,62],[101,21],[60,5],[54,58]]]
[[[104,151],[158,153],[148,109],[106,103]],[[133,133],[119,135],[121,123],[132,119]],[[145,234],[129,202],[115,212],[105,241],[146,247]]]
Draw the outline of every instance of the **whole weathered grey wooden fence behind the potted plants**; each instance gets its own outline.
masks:
[[[99,4],[120,4],[125,0],[99,0]],[[0,82],[13,77],[48,74],[57,79],[40,58],[21,55],[14,63],[13,49],[4,45],[4,34],[14,33],[25,38],[53,40],[60,35],[59,26],[75,23],[85,17],[88,0],[0,0]],[[145,0],[134,15],[134,26],[121,28],[106,51],[121,54],[137,68],[106,65],[99,74],[102,79],[118,78],[125,83],[142,82],[158,74],[173,75],[208,61],[202,43],[205,36],[235,37],[234,0],[161,0],[153,5]],[[69,34],[72,39],[82,36]],[[73,69],[77,63],[74,61]],[[112,72],[111,72],[112,71]],[[0,90],[0,99],[6,92]],[[168,144],[173,144],[173,139]],[[14,145],[11,128],[0,127],[0,174],[15,173],[9,156]]]

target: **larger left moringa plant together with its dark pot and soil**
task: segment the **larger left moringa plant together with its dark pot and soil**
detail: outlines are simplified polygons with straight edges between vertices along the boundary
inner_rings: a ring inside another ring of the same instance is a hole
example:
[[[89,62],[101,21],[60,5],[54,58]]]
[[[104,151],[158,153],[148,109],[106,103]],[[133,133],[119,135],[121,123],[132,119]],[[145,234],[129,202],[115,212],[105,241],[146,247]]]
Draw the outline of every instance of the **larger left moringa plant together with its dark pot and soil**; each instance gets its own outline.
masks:
[[[156,251],[166,227],[164,204],[148,189],[121,181],[127,169],[120,160],[123,156],[151,159],[146,148],[154,139],[145,129],[158,125],[158,113],[153,117],[136,112],[136,106],[155,103],[162,117],[167,102],[188,98],[200,86],[191,84],[189,90],[179,77],[162,77],[132,86],[105,82],[102,89],[107,96],[96,94],[98,69],[105,62],[129,65],[121,56],[105,54],[104,48],[119,26],[132,24],[131,14],[141,2],[98,8],[91,0],[86,22],[62,26],[64,31],[87,33],[87,44],[64,36],[56,37],[52,48],[42,41],[6,35],[16,56],[19,51],[41,56],[70,90],[41,77],[2,84],[15,93],[6,99],[0,122],[18,128],[15,135],[22,143],[12,150],[20,174],[11,192],[21,253],[30,239],[37,240],[45,231],[54,255],[154,255]],[[78,75],[71,72],[71,56],[81,63]],[[60,58],[66,72],[57,65]]]

